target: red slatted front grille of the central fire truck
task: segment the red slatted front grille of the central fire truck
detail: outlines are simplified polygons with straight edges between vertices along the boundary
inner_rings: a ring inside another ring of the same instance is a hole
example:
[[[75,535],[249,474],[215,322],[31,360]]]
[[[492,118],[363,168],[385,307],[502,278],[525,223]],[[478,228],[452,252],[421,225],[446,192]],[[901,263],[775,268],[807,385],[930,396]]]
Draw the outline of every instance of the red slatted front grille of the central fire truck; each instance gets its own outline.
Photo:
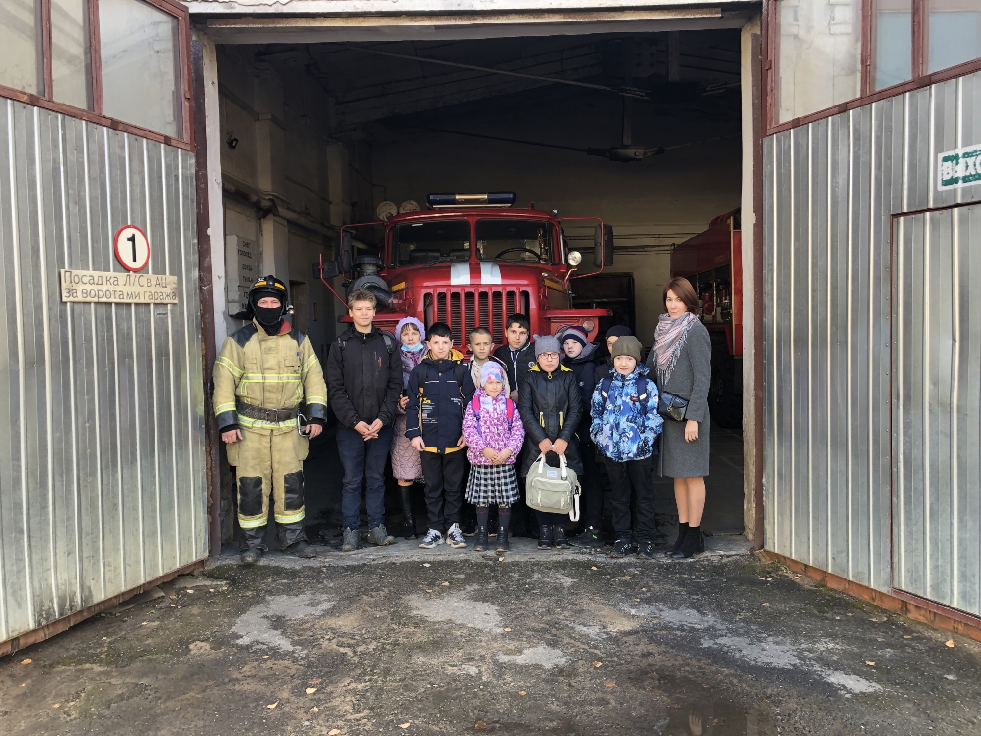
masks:
[[[527,313],[529,301],[528,291],[516,289],[446,289],[423,295],[426,321],[448,324],[455,345],[466,344],[475,327],[488,328],[494,344],[503,344],[507,315]]]

